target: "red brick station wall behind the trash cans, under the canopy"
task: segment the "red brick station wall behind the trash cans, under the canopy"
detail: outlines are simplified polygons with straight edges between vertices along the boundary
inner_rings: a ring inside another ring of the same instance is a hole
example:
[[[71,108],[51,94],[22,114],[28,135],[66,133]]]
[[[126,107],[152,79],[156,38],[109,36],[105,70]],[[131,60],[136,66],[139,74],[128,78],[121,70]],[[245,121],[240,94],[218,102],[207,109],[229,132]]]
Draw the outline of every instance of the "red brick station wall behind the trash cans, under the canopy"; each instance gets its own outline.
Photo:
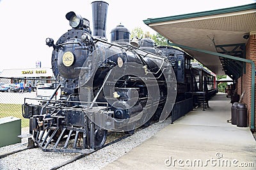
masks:
[[[253,60],[256,64],[256,32],[250,34],[250,38],[248,39],[248,43],[246,44],[246,59]],[[252,66],[251,64],[246,63],[246,74],[243,74],[241,78],[238,79],[237,92],[239,95],[245,91],[243,103],[247,105],[247,113],[248,113],[248,125],[251,125],[251,83],[252,83]],[[256,110],[256,107],[255,107]],[[254,118],[256,125],[256,117]],[[256,128],[255,128],[256,130]]]

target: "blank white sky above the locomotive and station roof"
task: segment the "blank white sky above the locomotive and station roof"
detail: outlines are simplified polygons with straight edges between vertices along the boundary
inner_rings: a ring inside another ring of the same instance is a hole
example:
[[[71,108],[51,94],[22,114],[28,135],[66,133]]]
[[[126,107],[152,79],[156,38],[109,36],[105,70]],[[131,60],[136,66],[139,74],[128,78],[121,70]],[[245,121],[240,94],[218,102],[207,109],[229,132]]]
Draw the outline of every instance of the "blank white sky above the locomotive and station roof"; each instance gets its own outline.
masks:
[[[88,0],[0,0],[0,71],[3,69],[33,68],[36,60],[42,67],[51,67],[52,48],[46,38],[54,42],[71,29],[66,13],[75,11],[92,25],[92,3]],[[129,31],[140,27],[154,34],[144,24],[147,18],[170,17],[186,13],[218,10],[256,3],[256,0],[106,0],[109,4],[106,34],[118,24]],[[92,26],[91,26],[92,29]]]

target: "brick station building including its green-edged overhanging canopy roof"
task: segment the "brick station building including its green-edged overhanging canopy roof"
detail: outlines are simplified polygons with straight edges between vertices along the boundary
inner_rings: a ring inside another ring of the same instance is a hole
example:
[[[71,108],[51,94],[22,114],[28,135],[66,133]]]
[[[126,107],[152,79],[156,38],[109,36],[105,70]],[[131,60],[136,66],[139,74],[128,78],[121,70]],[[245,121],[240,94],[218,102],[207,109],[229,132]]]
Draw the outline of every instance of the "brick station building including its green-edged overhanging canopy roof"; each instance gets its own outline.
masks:
[[[256,3],[143,22],[213,73],[232,78],[255,132]]]

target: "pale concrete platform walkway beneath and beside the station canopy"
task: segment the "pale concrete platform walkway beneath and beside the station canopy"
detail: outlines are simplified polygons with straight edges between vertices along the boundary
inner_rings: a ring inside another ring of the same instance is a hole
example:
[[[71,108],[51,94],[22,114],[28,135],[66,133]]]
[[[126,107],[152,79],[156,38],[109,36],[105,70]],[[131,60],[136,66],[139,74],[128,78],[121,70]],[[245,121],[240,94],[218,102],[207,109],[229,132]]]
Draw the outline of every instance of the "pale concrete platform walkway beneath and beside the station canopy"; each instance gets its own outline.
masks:
[[[227,123],[230,99],[216,94],[103,169],[256,169],[249,127]]]

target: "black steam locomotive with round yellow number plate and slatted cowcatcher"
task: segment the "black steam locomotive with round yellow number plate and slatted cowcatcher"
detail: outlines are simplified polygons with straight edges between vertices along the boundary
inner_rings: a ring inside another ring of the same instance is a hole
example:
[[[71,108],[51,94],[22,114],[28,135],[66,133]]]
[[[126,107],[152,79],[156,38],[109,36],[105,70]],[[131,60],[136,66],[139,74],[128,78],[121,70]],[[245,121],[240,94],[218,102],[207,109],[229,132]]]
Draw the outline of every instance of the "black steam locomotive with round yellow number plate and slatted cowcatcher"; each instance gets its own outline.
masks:
[[[56,43],[46,39],[53,48],[60,99],[53,100],[54,93],[44,105],[29,104],[32,99],[22,105],[33,141],[44,151],[99,149],[108,131],[132,134],[152,120],[165,120],[192,88],[189,69],[177,83],[180,62],[164,55],[164,48],[155,48],[152,39],[130,41],[130,32],[118,25],[111,31],[111,42],[106,40],[108,3],[93,2],[92,11],[92,31],[86,18],[71,11],[66,18],[72,29]],[[190,66],[190,58],[183,59]]]

